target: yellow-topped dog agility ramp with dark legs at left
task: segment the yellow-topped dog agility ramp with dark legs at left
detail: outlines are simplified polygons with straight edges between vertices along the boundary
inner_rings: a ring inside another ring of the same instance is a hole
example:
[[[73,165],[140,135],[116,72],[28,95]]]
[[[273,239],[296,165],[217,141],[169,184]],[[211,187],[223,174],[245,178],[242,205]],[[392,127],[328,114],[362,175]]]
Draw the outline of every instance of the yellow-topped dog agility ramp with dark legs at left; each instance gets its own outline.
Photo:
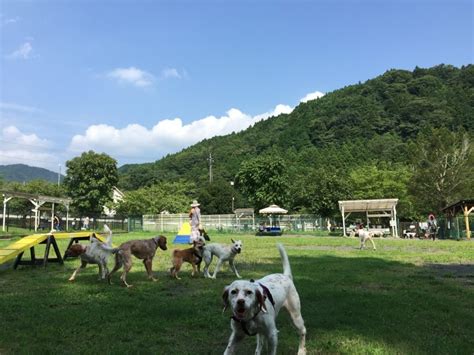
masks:
[[[13,268],[16,269],[18,265],[37,265],[42,264],[46,266],[48,262],[58,262],[60,264],[66,259],[66,257],[61,257],[59,252],[58,244],[56,240],[58,239],[70,239],[69,245],[66,250],[74,242],[79,240],[89,240],[90,237],[94,234],[97,239],[102,242],[105,242],[105,238],[98,233],[93,232],[78,232],[78,233],[48,233],[48,234],[33,234],[21,238],[19,241],[6,246],[5,248],[0,248],[0,265],[4,264],[14,258],[15,262]],[[46,249],[44,252],[43,259],[36,259],[35,247],[39,244],[46,244]],[[50,248],[53,246],[56,258],[50,258],[49,252]],[[25,251],[30,249],[31,260],[21,260]]]

